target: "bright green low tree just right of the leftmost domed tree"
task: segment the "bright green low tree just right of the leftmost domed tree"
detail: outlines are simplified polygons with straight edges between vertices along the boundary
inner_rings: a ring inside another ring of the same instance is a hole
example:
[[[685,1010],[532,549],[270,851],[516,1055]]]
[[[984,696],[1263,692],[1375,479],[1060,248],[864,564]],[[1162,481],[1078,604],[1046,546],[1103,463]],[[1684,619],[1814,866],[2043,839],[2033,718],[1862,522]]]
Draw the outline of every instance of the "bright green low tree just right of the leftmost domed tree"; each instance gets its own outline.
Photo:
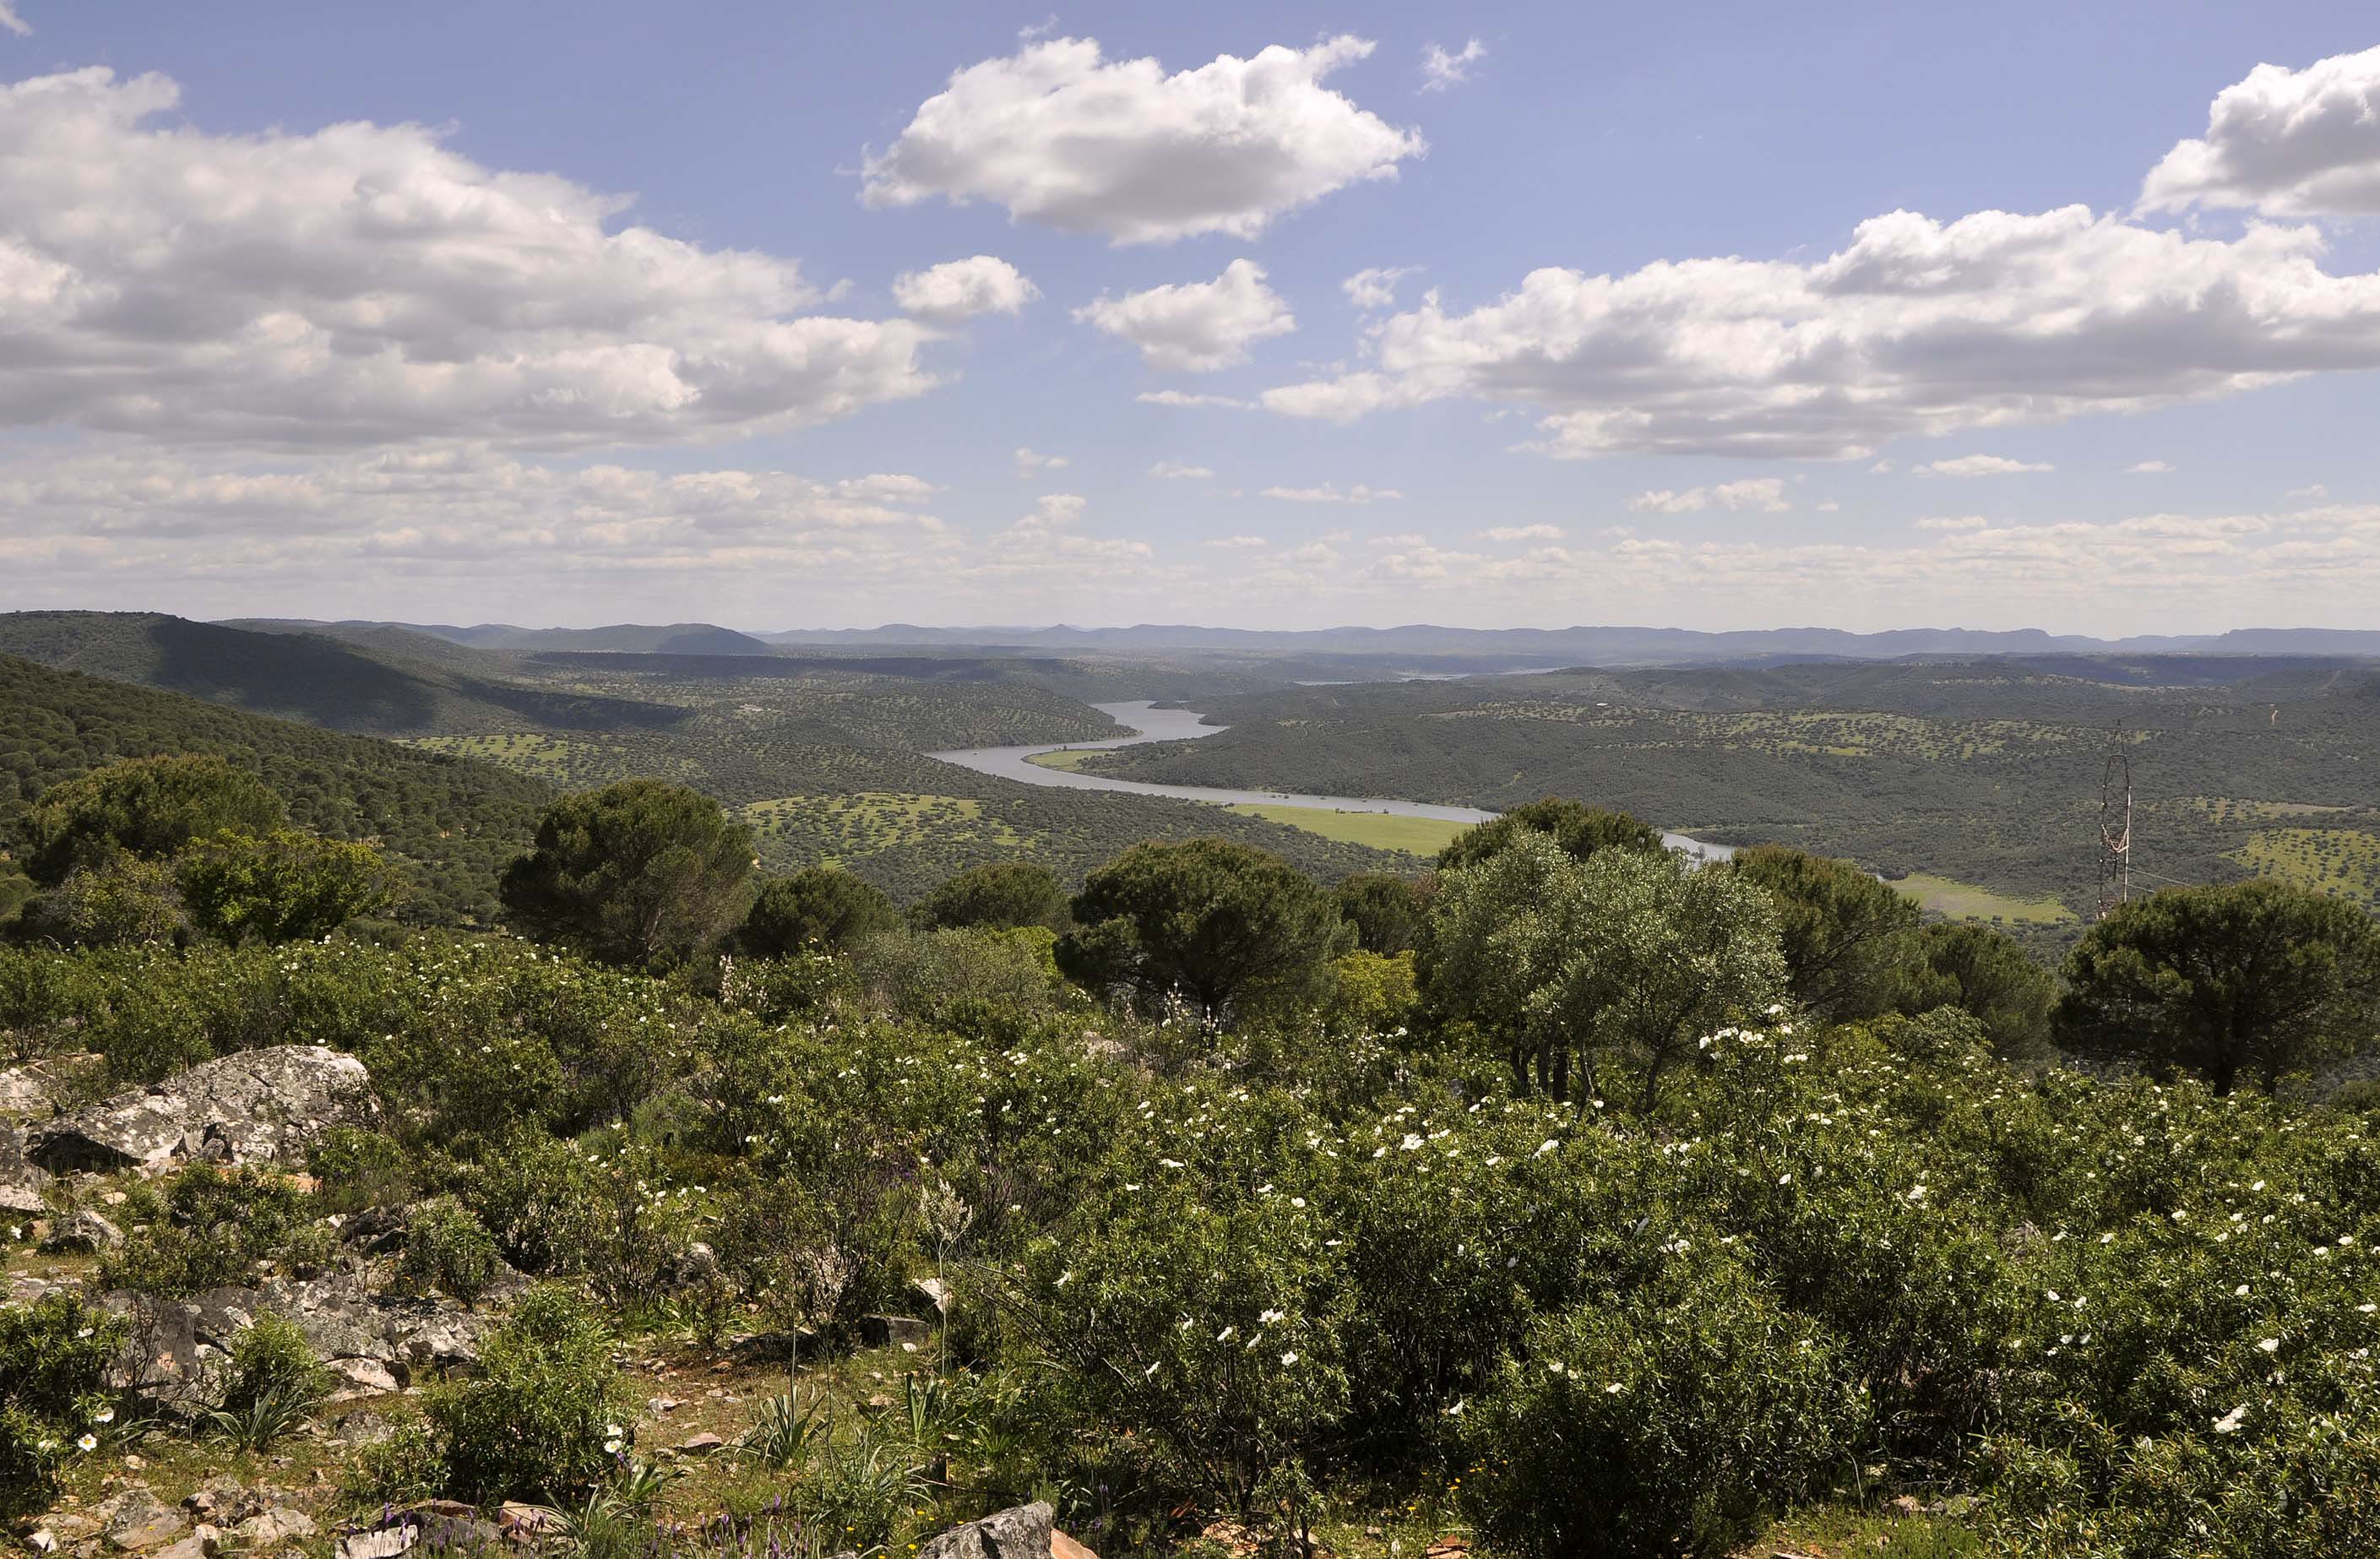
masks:
[[[319,940],[388,902],[378,850],[295,828],[226,828],[183,850],[174,876],[190,923],[226,943]]]

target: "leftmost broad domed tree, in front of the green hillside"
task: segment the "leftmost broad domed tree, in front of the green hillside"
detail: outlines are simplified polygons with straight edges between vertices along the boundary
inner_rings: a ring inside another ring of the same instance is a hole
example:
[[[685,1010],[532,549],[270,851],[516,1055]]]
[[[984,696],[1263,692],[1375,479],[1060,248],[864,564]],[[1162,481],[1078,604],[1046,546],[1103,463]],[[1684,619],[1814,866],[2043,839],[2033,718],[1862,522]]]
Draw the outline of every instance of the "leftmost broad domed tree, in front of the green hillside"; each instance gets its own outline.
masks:
[[[26,876],[62,883],[114,854],[157,859],[224,828],[267,833],[288,807],[219,757],[136,757],[52,785],[24,819]]]

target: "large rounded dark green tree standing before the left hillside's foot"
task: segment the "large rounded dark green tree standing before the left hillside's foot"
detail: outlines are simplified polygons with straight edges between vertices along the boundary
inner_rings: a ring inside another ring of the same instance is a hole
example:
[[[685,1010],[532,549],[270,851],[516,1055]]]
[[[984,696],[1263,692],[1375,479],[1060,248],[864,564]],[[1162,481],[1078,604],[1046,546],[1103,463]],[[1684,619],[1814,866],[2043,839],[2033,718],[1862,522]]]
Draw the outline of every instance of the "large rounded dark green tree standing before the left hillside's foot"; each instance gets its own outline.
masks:
[[[666,964],[719,933],[750,871],[752,833],[719,802],[633,778],[555,802],[497,897],[531,935],[612,964]]]

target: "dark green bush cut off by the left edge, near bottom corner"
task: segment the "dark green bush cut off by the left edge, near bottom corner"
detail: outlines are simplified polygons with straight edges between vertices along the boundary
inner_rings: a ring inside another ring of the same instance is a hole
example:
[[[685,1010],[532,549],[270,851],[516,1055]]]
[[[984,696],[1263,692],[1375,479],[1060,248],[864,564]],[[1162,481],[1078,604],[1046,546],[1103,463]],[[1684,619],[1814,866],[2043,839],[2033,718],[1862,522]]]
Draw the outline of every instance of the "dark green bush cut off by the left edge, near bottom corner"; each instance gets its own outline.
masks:
[[[114,1411],[107,1371],[126,1321],[76,1295],[0,1309],[0,1516],[43,1509],[57,1469]]]

